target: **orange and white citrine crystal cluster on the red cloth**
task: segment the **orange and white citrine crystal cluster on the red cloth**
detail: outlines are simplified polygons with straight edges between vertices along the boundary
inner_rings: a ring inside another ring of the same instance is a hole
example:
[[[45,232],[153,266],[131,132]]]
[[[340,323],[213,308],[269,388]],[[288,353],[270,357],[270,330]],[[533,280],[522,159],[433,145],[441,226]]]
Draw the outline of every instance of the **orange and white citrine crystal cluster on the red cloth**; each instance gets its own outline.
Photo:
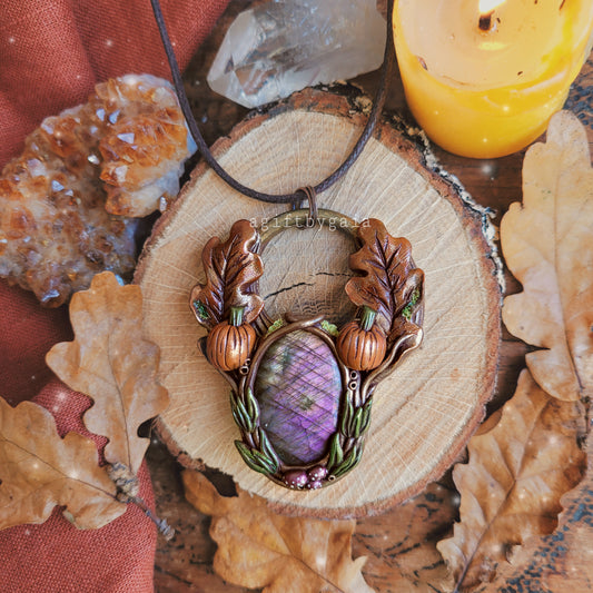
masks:
[[[0,176],[0,276],[47,306],[135,267],[139,217],[164,210],[195,150],[170,85],[128,75],[49,117]]]

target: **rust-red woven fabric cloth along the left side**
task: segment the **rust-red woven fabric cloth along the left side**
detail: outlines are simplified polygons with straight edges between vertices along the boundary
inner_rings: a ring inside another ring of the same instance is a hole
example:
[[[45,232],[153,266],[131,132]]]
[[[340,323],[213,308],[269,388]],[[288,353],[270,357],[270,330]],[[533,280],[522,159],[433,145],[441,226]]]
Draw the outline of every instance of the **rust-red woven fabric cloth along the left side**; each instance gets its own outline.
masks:
[[[228,0],[161,0],[185,67]],[[95,83],[125,73],[170,78],[148,0],[6,0],[0,3],[0,168],[41,120],[87,100]],[[90,401],[45,365],[57,342],[71,339],[66,308],[0,280],[0,395],[16,405],[34,396],[60,434],[90,436],[81,422]],[[105,438],[95,437],[97,446]],[[146,465],[140,495],[154,504]],[[0,486],[1,487],[1,486]],[[156,530],[130,505],[101,530],[78,531],[55,510],[43,525],[0,532],[2,593],[152,592]]]

